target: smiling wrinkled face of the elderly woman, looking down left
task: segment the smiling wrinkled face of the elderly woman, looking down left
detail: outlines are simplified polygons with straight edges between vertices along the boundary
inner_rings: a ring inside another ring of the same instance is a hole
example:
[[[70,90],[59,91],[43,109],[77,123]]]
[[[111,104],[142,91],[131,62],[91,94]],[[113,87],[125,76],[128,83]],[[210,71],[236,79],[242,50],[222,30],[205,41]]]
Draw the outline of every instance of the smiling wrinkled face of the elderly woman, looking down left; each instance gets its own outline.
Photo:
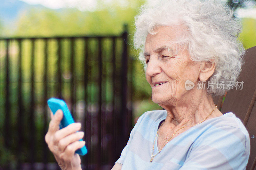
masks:
[[[148,34],[144,56],[147,63],[146,79],[152,87],[152,101],[158,104],[174,105],[189,91],[185,82],[199,81],[200,63],[190,60],[187,50],[174,54],[174,44],[177,35],[182,34],[181,26],[161,26],[156,28],[156,34]],[[170,50],[168,48],[170,47]],[[161,84],[163,83],[163,84]]]

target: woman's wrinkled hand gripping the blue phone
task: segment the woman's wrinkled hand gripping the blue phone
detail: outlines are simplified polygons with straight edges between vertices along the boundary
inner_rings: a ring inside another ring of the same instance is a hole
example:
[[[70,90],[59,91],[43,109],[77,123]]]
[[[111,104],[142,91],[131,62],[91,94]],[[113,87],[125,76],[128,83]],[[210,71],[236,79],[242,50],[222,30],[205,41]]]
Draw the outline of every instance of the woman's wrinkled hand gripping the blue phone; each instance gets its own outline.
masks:
[[[54,115],[51,113],[45,142],[62,170],[81,170],[81,159],[75,151],[85,145],[84,141],[78,141],[84,137],[84,132],[76,132],[81,128],[80,123],[69,124],[60,129],[59,124],[62,117],[62,110],[57,110]]]

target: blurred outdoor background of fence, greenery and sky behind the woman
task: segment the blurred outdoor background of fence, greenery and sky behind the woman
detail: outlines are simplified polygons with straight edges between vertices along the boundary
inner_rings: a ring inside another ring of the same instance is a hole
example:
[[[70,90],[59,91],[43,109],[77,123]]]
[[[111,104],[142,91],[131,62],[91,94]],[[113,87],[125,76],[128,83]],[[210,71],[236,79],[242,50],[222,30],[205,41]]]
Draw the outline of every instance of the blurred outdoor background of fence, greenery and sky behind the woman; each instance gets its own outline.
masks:
[[[83,169],[111,169],[151,101],[134,16],[152,0],[1,0],[0,169],[59,169],[44,142],[47,99],[83,124]],[[223,1],[226,2],[226,1]],[[256,46],[256,1],[228,0],[245,49]]]

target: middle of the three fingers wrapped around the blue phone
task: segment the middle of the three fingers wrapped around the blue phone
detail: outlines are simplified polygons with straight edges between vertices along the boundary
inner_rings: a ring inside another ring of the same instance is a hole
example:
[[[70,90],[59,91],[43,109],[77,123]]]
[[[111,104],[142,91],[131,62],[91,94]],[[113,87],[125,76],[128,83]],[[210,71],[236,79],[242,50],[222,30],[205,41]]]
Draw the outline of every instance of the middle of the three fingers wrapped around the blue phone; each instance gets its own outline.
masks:
[[[84,137],[84,132],[79,131],[76,133],[72,133],[72,134],[66,136],[65,138],[60,139],[59,145],[58,145],[59,151],[63,152],[69,144],[71,144],[75,141],[78,141],[78,140],[82,139],[83,137]]]

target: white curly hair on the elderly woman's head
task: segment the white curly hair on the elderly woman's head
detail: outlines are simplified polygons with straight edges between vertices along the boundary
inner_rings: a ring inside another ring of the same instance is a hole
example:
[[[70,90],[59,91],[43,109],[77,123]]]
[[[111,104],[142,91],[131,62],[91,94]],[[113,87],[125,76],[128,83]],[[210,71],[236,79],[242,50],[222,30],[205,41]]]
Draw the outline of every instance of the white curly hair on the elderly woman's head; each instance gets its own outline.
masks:
[[[216,88],[217,81],[235,82],[244,62],[244,47],[238,40],[241,22],[220,0],[160,0],[156,5],[143,5],[135,17],[134,47],[140,49],[139,59],[145,62],[144,46],[148,35],[158,26],[183,25],[184,34],[173,42],[176,52],[188,50],[193,61],[215,62],[215,71],[208,79],[208,94],[224,95],[227,89]]]

